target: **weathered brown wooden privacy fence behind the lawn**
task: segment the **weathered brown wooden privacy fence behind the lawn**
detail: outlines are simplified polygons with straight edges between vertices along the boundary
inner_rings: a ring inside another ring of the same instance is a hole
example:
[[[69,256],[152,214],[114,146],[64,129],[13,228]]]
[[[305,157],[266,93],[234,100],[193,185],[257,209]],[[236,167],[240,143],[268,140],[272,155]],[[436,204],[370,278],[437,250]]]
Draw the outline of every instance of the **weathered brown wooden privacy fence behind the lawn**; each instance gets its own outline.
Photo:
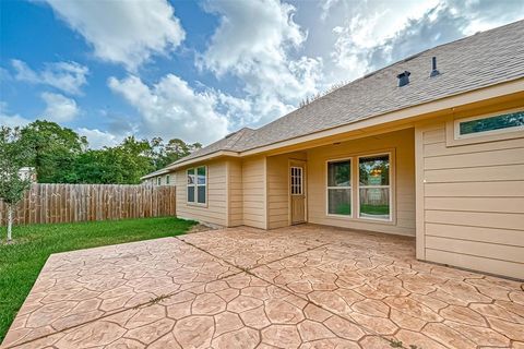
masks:
[[[71,222],[175,216],[175,186],[32,184],[14,212],[14,224]],[[8,207],[0,201],[0,225]]]

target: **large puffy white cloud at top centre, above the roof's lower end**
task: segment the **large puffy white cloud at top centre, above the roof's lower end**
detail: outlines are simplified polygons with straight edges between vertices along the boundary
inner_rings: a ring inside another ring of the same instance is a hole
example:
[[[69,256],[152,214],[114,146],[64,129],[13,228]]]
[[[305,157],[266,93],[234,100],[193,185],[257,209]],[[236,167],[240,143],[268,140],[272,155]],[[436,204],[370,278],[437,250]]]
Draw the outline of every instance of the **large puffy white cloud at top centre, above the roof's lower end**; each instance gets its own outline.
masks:
[[[205,10],[219,15],[221,23],[196,63],[219,79],[230,75],[241,82],[251,112],[235,121],[271,121],[318,92],[322,59],[293,56],[307,39],[294,21],[293,5],[277,0],[210,1]]]

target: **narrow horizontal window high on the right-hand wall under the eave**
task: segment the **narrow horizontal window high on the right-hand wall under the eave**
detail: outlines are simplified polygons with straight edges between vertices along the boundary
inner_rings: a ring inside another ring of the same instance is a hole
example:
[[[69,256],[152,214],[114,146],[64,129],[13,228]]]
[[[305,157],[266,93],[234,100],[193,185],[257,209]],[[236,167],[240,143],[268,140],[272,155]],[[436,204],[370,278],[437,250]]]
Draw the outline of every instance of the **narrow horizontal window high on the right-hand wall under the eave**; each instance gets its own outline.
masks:
[[[471,137],[524,130],[524,111],[455,121],[455,137]]]

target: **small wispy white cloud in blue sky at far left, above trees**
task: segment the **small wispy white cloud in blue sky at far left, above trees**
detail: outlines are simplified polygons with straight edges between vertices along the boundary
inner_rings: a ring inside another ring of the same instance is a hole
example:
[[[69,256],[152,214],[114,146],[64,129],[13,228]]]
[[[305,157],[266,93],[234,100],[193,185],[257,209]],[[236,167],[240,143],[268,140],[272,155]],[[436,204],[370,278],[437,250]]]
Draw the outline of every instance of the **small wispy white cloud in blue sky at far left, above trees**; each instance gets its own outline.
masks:
[[[46,63],[44,70],[36,72],[25,62],[13,59],[14,77],[32,84],[44,84],[61,89],[68,94],[78,95],[86,83],[87,67],[76,62]]]

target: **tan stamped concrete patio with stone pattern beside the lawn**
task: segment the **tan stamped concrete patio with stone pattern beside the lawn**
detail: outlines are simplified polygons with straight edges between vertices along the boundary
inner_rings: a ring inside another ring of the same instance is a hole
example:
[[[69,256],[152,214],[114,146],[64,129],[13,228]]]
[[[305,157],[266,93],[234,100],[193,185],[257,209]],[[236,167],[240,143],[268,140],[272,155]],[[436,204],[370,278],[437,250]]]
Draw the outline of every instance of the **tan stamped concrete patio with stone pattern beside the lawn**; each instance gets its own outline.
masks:
[[[302,225],[56,254],[2,348],[524,348],[524,284],[414,243]]]

